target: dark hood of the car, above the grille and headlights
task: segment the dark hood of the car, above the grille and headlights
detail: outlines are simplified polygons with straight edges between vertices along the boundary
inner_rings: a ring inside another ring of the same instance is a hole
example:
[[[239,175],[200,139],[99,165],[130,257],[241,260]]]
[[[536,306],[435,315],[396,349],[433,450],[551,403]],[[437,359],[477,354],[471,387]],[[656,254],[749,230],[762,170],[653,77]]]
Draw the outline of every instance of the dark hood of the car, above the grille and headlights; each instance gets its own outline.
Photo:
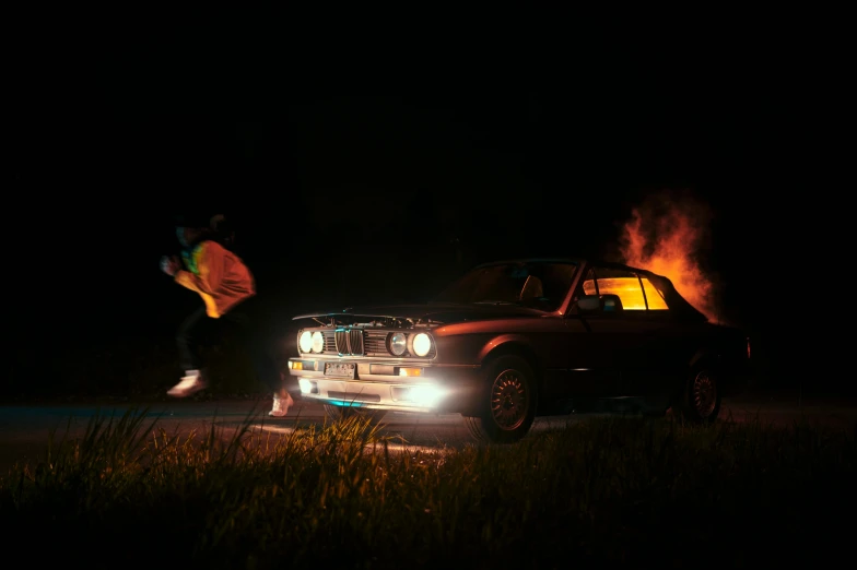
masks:
[[[453,323],[476,319],[503,319],[541,317],[544,311],[518,307],[517,305],[457,305],[457,304],[413,304],[385,305],[374,307],[348,307],[341,311],[301,314],[298,319],[336,319],[338,322],[362,322],[366,320],[403,319],[413,322]]]

